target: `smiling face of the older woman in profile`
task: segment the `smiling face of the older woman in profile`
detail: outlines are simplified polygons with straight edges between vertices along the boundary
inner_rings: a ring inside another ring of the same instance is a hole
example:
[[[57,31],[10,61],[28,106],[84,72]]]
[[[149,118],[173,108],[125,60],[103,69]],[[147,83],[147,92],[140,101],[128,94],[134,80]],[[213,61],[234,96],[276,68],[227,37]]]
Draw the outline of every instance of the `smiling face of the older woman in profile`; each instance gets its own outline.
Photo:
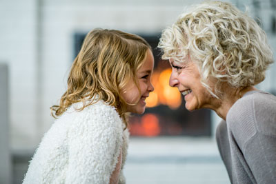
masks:
[[[172,74],[170,75],[170,86],[178,88],[186,101],[186,109],[189,111],[201,108],[211,108],[215,98],[201,84],[201,76],[197,64],[186,58],[179,63],[170,60]]]

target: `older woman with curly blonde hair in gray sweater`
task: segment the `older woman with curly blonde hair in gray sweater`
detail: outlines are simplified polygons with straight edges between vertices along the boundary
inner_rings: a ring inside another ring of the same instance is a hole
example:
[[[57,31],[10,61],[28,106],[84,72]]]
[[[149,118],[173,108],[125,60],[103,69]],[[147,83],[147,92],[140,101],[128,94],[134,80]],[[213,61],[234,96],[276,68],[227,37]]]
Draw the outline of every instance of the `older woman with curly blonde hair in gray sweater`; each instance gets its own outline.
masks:
[[[231,183],[276,183],[276,96],[255,88],[273,63],[262,28],[230,3],[208,1],[166,28],[159,48],[186,109],[223,119],[217,144]]]

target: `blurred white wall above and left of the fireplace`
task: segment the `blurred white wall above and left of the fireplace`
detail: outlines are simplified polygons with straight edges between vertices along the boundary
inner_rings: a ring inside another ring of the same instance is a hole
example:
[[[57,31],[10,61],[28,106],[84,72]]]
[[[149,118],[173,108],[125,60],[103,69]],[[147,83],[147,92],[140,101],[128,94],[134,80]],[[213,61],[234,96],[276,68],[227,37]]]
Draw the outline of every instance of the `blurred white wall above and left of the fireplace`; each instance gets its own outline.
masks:
[[[0,60],[8,61],[10,67],[12,147],[36,147],[54,121],[49,108],[66,89],[75,32],[99,27],[161,32],[177,19],[184,6],[197,2],[1,0]],[[275,45],[275,39],[270,41]],[[273,79],[275,72],[269,72],[261,88],[276,90]]]

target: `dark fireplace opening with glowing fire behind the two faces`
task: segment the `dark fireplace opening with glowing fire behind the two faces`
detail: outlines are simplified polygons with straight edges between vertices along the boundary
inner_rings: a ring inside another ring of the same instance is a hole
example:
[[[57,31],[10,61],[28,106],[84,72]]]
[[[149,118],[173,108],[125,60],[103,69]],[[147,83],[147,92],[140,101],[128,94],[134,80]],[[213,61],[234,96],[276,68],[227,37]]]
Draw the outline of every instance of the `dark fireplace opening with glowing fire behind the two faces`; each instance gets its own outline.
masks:
[[[131,136],[210,136],[210,110],[188,112],[185,101],[177,88],[168,85],[170,65],[161,60],[157,49],[161,34],[139,34],[152,46],[155,57],[155,70],[152,74],[152,85],[155,91],[146,99],[147,108],[144,114],[130,116]],[[81,48],[86,33],[74,35],[75,55]]]

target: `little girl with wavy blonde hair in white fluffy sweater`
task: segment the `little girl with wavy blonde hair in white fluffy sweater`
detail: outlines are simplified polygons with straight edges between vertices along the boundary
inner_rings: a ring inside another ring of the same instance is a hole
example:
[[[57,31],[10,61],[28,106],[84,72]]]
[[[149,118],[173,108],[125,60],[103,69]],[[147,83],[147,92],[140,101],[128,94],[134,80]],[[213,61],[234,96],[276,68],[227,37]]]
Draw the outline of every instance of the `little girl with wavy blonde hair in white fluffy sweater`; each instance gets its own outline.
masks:
[[[23,183],[126,183],[128,114],[142,114],[154,90],[154,60],[141,37],[119,30],[89,32]]]

